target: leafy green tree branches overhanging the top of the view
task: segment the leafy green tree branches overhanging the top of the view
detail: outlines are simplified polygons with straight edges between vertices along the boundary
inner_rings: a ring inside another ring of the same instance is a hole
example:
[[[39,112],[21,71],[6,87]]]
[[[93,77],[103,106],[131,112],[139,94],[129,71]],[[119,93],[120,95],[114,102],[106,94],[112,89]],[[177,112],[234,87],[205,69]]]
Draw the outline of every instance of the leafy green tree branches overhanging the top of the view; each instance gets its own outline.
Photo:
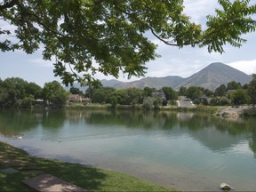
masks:
[[[184,14],[180,0],[4,0],[0,20],[8,25],[0,28],[0,50],[30,54],[43,49],[44,60],[55,60],[54,73],[66,85],[75,80],[92,84],[97,72],[143,76],[145,63],[157,57],[147,32],[164,44],[207,46],[209,52],[246,42],[242,36],[256,28],[251,18],[256,5],[250,0],[218,2],[221,9],[206,17],[203,30]]]

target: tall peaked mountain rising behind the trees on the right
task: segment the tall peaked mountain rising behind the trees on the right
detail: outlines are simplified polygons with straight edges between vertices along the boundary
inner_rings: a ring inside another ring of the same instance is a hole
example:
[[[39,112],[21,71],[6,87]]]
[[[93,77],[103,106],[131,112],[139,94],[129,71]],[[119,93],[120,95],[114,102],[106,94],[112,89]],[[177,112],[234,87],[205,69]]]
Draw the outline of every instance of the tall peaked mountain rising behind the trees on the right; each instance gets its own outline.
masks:
[[[252,76],[248,76],[236,68],[231,68],[220,62],[212,63],[196,74],[189,76],[183,83],[174,87],[180,86],[201,86],[210,90],[215,90],[220,84],[228,84],[231,81],[247,84],[252,80]]]

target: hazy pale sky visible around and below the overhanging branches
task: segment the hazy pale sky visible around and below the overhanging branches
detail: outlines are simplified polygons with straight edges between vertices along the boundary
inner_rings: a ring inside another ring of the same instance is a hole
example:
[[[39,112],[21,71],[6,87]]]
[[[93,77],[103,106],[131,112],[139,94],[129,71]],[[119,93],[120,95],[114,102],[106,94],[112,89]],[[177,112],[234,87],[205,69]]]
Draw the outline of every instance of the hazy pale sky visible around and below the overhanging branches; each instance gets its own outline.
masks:
[[[256,4],[256,0],[251,0]],[[184,0],[185,12],[196,23],[204,27],[205,16],[214,13],[214,7],[217,6],[217,0]],[[3,25],[3,23],[2,23]],[[0,22],[1,28],[1,22]],[[245,36],[248,40],[242,48],[225,46],[225,52],[209,53],[205,48],[184,47],[179,49],[154,40],[158,44],[156,53],[161,58],[147,63],[148,73],[146,76],[182,76],[188,77],[205,68],[212,62],[223,62],[233,68],[244,71],[246,74],[256,73],[256,34],[255,32]],[[28,82],[35,82],[41,86],[45,82],[60,80],[55,77],[52,70],[52,62],[44,61],[41,52],[27,55],[24,52],[0,52],[0,78],[4,80],[7,77],[21,77]],[[100,79],[112,79],[112,76],[95,76]],[[142,78],[142,77],[141,77]],[[132,78],[131,80],[136,80]],[[127,81],[121,75],[119,80]]]

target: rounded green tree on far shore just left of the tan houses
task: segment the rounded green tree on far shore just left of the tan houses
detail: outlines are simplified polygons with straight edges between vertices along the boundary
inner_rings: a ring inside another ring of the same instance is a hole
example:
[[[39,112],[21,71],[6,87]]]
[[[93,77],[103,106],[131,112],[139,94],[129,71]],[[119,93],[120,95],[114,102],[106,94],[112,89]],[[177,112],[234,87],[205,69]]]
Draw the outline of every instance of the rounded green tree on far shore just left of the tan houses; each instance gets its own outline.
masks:
[[[68,92],[57,81],[44,84],[43,88],[44,100],[48,100],[52,105],[63,106],[68,99]]]

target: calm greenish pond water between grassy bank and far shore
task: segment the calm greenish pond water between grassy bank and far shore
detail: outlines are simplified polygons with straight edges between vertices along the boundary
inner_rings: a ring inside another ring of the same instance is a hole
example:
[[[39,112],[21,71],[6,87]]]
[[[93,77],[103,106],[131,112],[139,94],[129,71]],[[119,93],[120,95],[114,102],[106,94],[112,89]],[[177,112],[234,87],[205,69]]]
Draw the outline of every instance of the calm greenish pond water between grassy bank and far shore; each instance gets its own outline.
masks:
[[[199,113],[0,110],[0,140],[34,156],[126,172],[171,188],[256,191],[256,120]]]

